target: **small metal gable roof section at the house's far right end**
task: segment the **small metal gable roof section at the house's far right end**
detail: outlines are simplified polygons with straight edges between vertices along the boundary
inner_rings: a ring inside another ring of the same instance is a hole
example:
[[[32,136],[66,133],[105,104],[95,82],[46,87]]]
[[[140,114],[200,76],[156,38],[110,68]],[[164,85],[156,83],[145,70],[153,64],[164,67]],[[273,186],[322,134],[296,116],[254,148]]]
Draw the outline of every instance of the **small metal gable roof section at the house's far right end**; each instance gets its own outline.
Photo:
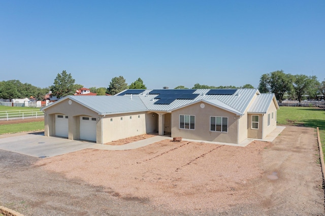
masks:
[[[256,96],[252,105],[249,107],[247,113],[266,114],[269,110],[271,103],[274,102],[276,109],[279,109],[278,102],[275,95],[271,93],[259,94]]]

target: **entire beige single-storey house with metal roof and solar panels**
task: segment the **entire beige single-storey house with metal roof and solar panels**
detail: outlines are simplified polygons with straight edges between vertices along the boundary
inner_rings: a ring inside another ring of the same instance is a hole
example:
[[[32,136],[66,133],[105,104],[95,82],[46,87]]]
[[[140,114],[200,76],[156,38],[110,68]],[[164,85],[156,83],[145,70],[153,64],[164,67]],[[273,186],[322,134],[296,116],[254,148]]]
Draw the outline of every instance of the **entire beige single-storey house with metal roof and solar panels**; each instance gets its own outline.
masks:
[[[67,96],[42,110],[45,135],[106,143],[144,133],[240,143],[276,128],[274,94],[257,89],[129,89]]]

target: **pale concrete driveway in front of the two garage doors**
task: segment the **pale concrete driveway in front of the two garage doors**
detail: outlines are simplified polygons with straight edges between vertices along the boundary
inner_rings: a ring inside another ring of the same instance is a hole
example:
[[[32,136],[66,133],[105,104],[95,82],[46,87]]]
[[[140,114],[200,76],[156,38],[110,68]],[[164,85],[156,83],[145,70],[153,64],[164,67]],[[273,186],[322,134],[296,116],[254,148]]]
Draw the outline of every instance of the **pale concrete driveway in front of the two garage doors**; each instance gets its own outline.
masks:
[[[44,136],[44,133],[0,138],[0,149],[38,158],[75,152],[94,145],[93,142]]]

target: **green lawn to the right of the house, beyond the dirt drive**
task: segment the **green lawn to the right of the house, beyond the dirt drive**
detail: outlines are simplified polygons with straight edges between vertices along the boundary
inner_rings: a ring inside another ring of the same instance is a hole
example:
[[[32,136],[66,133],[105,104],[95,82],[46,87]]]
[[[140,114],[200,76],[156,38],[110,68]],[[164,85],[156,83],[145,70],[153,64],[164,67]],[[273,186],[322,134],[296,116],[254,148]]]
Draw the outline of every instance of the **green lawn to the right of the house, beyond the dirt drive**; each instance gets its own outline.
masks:
[[[318,127],[322,149],[325,152],[325,110],[314,107],[280,106],[277,122],[281,125]]]

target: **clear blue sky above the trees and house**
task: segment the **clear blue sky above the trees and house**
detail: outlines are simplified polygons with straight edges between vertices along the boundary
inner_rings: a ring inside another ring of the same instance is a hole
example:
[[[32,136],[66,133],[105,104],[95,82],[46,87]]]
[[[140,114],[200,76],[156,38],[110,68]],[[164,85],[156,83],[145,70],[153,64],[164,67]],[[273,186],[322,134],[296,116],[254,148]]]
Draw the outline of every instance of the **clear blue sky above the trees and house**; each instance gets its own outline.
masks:
[[[149,89],[258,86],[284,70],[325,79],[325,1],[0,0],[0,81]]]

